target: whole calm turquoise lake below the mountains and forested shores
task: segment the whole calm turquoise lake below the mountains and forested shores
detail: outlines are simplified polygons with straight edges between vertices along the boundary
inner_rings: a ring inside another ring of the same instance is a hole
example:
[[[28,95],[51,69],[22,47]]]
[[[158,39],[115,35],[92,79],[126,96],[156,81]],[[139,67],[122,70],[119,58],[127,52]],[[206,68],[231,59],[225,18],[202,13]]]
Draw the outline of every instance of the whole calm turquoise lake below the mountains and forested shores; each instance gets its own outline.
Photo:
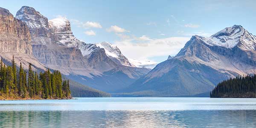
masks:
[[[0,101],[0,128],[256,128],[256,99]]]

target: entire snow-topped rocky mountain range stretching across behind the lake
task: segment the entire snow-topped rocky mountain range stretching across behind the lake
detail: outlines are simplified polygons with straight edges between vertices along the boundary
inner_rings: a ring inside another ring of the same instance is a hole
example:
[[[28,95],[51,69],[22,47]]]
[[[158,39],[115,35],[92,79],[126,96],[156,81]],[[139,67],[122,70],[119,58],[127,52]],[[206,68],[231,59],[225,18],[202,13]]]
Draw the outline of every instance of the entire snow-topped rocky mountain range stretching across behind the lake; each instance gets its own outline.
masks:
[[[192,36],[177,55],[157,64],[126,58],[107,41],[79,41],[67,18],[48,20],[29,6],[16,18],[0,8],[0,17],[4,61],[15,55],[25,68],[31,62],[34,70],[60,70],[68,79],[117,96],[191,96],[230,77],[256,73],[256,37],[240,25],[209,38]]]

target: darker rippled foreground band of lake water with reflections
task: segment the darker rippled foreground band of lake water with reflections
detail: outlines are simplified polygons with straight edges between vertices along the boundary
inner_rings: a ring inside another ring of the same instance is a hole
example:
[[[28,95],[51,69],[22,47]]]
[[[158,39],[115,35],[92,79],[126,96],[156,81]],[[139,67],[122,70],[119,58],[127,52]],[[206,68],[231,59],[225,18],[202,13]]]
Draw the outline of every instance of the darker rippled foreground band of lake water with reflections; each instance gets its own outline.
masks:
[[[255,128],[255,110],[2,111],[0,128]]]

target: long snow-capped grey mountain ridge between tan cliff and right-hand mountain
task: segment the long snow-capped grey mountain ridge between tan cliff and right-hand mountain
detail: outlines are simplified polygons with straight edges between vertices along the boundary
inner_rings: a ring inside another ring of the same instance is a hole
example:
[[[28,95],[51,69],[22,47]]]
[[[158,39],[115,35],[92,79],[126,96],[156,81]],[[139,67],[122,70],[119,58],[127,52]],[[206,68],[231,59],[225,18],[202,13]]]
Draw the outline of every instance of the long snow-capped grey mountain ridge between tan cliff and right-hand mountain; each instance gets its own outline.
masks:
[[[150,71],[135,67],[118,47],[108,42],[79,41],[65,17],[48,20],[29,6],[21,7],[16,17],[26,23],[32,33],[34,57],[51,69],[60,70],[68,79],[113,92]]]

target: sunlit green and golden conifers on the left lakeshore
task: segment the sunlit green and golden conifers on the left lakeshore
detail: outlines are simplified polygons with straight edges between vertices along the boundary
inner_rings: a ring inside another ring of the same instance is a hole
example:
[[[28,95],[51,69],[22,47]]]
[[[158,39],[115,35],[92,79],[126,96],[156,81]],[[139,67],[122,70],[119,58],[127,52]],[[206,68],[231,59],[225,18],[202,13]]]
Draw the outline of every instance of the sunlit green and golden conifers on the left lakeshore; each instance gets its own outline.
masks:
[[[24,70],[22,64],[16,67],[0,61],[0,99],[70,99],[69,80],[62,80],[58,70],[34,72],[32,64]]]

